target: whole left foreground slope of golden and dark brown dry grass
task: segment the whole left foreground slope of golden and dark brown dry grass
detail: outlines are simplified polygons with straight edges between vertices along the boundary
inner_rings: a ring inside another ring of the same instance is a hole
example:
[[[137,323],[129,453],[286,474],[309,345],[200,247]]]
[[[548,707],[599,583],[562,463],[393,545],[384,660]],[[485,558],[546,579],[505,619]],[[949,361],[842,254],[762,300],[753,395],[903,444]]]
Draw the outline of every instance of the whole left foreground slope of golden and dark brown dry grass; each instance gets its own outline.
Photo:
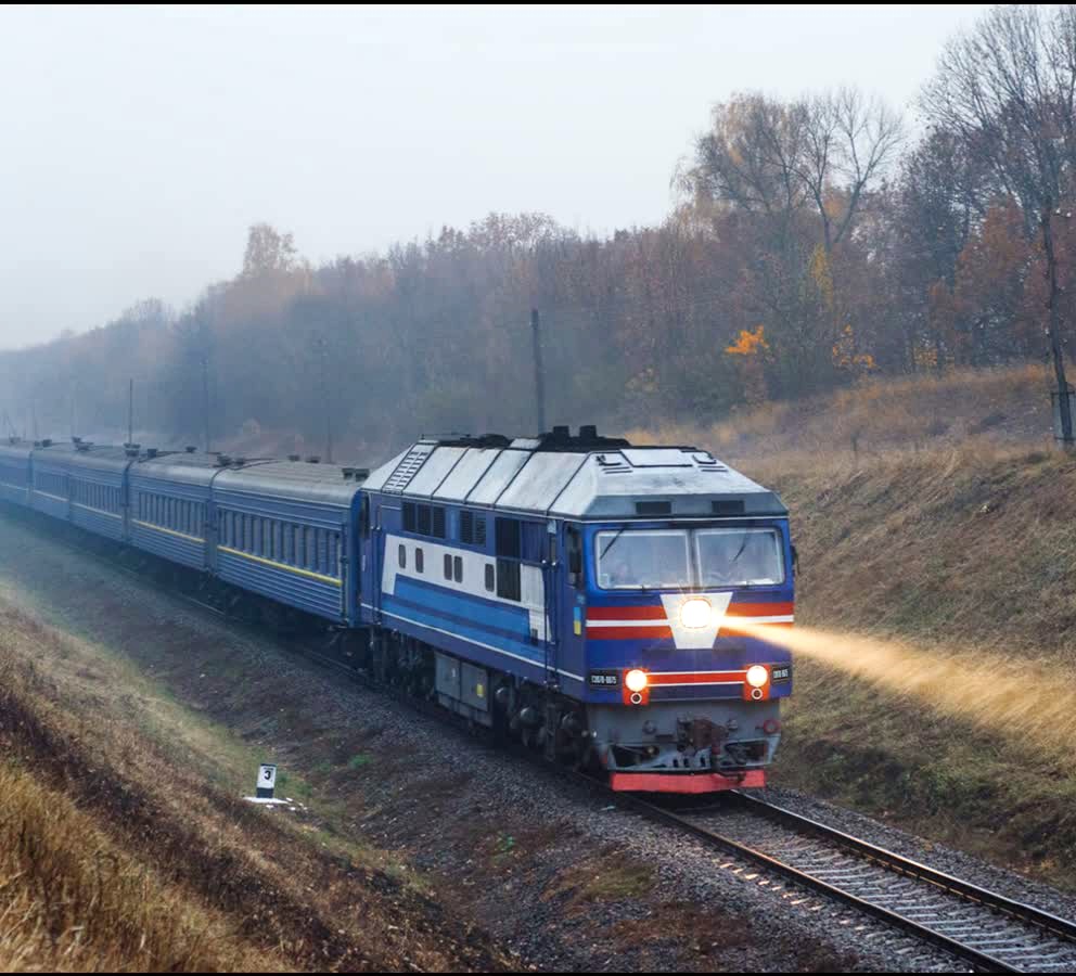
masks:
[[[232,780],[214,769],[228,733],[209,758],[210,723],[128,668],[0,600],[0,966],[502,966],[316,813],[269,816],[216,786]]]

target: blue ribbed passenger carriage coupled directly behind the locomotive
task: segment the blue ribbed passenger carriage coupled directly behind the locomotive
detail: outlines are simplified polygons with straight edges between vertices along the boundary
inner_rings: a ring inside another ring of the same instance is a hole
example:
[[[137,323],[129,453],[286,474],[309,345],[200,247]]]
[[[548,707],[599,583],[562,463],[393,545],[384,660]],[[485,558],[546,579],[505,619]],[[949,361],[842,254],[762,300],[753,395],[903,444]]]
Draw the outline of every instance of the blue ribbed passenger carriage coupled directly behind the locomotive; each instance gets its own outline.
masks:
[[[214,483],[217,575],[334,622],[354,619],[360,483],[328,464],[265,462]]]

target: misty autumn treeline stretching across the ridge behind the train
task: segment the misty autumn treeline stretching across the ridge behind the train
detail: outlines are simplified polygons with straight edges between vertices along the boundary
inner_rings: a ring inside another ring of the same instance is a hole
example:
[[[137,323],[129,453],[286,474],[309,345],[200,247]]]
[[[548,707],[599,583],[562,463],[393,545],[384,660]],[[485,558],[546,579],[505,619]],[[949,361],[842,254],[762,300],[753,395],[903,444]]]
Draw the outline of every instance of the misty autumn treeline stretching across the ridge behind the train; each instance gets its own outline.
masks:
[[[323,453],[423,432],[716,419],[878,374],[1064,351],[1076,323],[1076,7],[1001,7],[906,120],[856,89],[715,106],[654,228],[542,215],[312,267],[271,227],[179,316],[0,357],[8,423]],[[915,134],[909,134],[914,132]],[[1059,355],[1059,365],[1064,357]],[[317,450],[316,450],[317,449]]]

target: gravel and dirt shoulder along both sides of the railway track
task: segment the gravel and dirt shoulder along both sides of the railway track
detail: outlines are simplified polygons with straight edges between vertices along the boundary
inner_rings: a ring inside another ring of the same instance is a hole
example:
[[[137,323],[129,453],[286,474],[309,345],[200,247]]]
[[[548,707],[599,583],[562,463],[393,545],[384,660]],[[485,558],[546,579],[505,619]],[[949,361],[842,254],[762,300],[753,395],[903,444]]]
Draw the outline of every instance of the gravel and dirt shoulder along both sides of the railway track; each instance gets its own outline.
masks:
[[[488,933],[520,968],[953,969],[904,936],[347,682],[284,638],[215,618],[3,513],[0,599],[132,663],[227,730],[207,733],[207,754],[239,744],[278,762],[281,792],[315,812],[325,844],[388,852],[399,876]],[[1076,915],[1072,899],[955,851],[789,791],[769,798]]]

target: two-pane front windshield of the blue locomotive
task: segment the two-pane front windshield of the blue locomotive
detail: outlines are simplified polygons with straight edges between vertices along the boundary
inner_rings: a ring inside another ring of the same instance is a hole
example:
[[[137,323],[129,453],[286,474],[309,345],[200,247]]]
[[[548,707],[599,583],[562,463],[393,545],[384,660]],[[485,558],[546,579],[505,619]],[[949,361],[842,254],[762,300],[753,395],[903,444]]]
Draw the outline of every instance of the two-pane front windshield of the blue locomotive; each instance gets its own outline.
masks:
[[[620,529],[599,532],[595,562],[603,590],[760,587],[784,582],[774,529]]]

